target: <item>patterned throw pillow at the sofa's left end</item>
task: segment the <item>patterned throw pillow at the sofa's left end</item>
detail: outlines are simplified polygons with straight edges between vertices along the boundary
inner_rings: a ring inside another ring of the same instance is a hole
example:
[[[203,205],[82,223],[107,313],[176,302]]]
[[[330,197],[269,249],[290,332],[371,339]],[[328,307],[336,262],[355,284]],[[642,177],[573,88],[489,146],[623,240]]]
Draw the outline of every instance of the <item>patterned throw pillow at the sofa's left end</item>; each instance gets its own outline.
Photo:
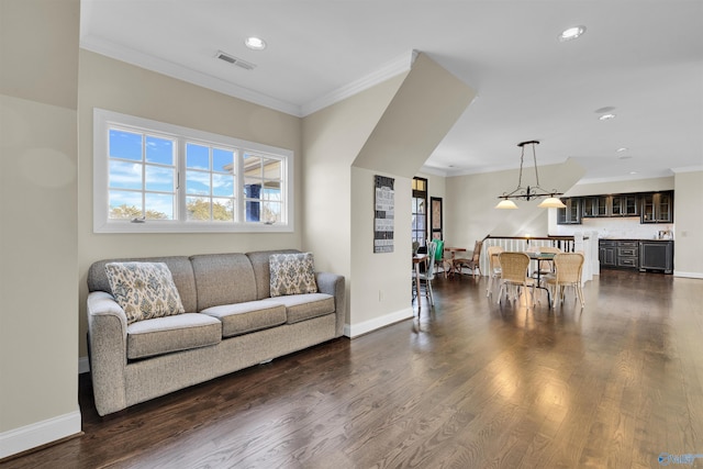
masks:
[[[105,273],[127,324],[186,312],[164,263],[109,263]]]

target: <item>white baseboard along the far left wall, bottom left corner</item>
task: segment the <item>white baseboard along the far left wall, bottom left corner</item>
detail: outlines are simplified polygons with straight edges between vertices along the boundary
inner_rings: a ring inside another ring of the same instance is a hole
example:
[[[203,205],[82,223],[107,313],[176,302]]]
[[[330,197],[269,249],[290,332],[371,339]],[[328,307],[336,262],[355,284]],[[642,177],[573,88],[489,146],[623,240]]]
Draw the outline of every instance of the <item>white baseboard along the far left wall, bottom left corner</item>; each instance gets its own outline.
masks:
[[[0,433],[0,459],[81,432],[80,411]]]

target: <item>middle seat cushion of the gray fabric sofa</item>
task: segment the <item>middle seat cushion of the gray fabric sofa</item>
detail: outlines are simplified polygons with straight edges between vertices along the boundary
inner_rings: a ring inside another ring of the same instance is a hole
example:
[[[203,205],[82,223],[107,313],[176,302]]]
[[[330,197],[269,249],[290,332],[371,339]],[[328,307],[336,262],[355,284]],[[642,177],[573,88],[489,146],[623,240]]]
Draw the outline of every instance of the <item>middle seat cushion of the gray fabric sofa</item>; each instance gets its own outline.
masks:
[[[286,324],[286,306],[268,301],[223,304],[201,311],[222,322],[222,337],[232,337]]]

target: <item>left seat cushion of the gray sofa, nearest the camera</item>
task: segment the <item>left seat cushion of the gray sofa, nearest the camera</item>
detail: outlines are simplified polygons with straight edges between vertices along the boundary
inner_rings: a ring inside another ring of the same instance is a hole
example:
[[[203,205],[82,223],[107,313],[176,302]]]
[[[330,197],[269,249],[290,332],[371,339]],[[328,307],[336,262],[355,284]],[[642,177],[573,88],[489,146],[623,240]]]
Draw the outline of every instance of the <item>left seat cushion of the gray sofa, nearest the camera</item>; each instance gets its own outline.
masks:
[[[127,326],[127,358],[146,358],[170,351],[215,345],[222,339],[222,323],[199,313],[156,317]]]

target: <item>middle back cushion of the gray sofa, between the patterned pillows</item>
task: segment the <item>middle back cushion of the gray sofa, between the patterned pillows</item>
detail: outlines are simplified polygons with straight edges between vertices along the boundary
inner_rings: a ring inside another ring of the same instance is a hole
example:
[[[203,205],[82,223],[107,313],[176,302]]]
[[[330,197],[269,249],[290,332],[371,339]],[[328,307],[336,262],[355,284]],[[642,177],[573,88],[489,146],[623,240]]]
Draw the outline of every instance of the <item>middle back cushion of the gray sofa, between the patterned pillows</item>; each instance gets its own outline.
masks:
[[[256,300],[256,281],[244,254],[203,254],[190,261],[198,288],[198,311]]]

